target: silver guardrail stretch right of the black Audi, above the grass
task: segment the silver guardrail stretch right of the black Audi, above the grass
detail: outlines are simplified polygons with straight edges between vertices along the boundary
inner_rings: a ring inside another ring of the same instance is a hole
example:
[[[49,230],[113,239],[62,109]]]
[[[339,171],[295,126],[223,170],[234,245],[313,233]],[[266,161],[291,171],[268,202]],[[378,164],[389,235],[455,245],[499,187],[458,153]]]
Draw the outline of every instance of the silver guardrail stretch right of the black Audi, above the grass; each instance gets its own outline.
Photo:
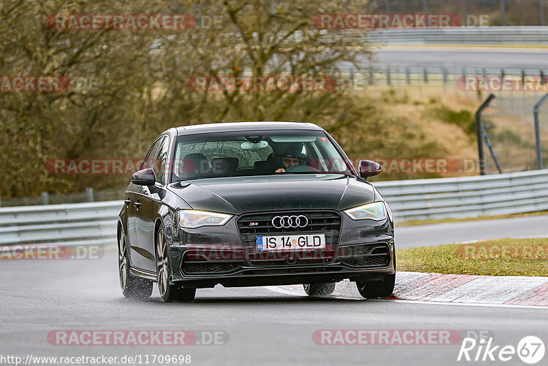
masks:
[[[548,170],[374,183],[396,222],[548,210]]]

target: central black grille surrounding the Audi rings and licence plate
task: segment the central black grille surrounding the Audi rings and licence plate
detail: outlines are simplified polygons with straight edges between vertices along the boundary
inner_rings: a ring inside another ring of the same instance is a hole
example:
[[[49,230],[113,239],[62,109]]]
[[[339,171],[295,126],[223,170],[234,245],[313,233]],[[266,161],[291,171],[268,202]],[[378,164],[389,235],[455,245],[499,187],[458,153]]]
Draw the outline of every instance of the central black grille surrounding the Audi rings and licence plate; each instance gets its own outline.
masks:
[[[275,228],[275,216],[304,215],[308,219],[305,228]],[[238,230],[251,265],[305,265],[330,263],[335,257],[340,235],[341,218],[337,212],[323,210],[276,211],[242,215]],[[323,251],[316,252],[262,252],[256,248],[257,236],[276,234],[325,234]]]

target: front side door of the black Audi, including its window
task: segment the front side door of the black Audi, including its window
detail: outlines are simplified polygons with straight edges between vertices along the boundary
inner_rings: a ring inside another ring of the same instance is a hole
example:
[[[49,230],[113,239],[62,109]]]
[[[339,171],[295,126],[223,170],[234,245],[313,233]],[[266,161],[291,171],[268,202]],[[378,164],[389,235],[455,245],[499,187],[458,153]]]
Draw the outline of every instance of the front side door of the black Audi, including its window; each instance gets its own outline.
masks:
[[[169,151],[169,138],[162,137],[159,141],[158,150],[155,151],[153,161],[149,160],[147,167],[153,169],[156,175],[154,186],[139,186],[137,197],[139,200],[136,218],[138,221],[137,227],[137,243],[140,254],[145,258],[143,269],[149,271],[156,270],[155,263],[155,248],[154,248],[154,225],[158,209],[162,204],[160,197],[163,197],[164,190],[164,169]]]

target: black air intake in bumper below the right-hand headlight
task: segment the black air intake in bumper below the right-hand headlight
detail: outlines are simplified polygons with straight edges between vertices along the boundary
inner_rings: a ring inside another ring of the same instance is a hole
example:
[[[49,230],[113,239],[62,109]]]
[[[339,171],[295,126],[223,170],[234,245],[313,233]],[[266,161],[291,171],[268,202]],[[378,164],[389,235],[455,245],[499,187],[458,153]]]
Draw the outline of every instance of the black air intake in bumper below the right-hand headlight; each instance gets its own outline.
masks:
[[[390,250],[384,243],[342,247],[339,258],[353,267],[385,267],[390,263]]]

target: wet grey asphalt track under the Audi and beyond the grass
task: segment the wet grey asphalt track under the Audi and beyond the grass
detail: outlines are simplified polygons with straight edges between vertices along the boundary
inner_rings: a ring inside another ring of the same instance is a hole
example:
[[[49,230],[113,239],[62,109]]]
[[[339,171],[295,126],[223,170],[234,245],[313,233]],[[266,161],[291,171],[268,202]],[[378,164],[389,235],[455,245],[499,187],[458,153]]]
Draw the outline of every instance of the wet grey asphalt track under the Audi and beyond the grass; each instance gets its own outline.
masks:
[[[521,236],[524,221],[536,228],[546,219],[400,228],[397,237],[402,247],[406,237],[408,246],[427,245],[430,240],[443,241],[446,236],[438,236],[440,232],[451,237],[463,228],[475,237],[500,236],[503,227]],[[545,231],[523,233],[527,232]],[[420,236],[423,241],[417,241]],[[312,333],[322,329],[489,330],[499,345],[515,346],[527,335],[548,345],[547,308],[362,300],[349,283],[338,284],[336,294],[324,298],[307,297],[295,286],[216,286],[199,289],[192,304],[164,304],[157,289],[145,302],[122,297],[114,250],[100,260],[3,260],[0,266],[0,355],[190,354],[191,365],[499,364],[457,362],[460,345],[316,345]],[[47,341],[52,330],[223,330],[229,341],[192,346],[58,346]],[[547,360],[545,356],[538,365],[546,365]],[[516,356],[504,364],[525,365]]]

